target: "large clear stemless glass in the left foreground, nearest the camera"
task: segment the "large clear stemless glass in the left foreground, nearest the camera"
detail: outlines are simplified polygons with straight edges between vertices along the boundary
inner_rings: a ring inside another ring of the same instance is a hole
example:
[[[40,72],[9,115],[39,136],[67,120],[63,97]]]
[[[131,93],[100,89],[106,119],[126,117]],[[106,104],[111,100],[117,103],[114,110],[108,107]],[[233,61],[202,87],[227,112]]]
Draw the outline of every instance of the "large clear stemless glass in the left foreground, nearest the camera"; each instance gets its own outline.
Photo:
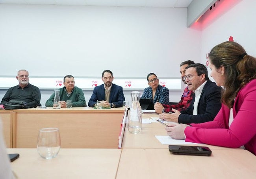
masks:
[[[52,159],[57,156],[60,149],[60,135],[58,128],[43,128],[39,130],[37,151],[44,159]]]

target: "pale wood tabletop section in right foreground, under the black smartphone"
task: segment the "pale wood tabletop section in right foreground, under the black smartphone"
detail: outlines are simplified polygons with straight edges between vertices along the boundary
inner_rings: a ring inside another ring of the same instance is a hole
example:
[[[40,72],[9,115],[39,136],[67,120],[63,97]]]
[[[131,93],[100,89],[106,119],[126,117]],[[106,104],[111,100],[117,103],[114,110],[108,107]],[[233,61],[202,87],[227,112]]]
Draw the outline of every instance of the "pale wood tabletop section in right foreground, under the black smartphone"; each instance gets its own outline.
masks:
[[[212,149],[210,157],[174,155],[168,149],[122,149],[117,179],[255,178],[256,157],[243,149]]]

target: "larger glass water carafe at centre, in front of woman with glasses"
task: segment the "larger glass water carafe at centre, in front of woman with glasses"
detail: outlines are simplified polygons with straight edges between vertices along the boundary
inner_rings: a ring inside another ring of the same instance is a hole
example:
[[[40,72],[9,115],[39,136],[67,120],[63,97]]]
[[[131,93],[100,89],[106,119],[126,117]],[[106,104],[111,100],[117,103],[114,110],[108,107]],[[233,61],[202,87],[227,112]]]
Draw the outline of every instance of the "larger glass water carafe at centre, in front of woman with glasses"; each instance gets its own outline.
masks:
[[[140,93],[138,91],[131,92],[132,105],[128,115],[128,131],[137,134],[142,127],[141,105],[139,104]]]

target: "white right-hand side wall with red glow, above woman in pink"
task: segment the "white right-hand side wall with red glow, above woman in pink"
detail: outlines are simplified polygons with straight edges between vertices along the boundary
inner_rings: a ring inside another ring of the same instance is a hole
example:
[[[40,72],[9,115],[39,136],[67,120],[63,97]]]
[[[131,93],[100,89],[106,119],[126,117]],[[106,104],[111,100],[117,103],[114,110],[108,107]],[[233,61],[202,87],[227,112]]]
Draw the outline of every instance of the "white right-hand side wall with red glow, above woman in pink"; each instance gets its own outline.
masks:
[[[202,63],[206,64],[206,54],[211,48],[228,41],[230,36],[247,54],[256,56],[256,1],[224,0],[216,7],[199,21],[202,23]]]

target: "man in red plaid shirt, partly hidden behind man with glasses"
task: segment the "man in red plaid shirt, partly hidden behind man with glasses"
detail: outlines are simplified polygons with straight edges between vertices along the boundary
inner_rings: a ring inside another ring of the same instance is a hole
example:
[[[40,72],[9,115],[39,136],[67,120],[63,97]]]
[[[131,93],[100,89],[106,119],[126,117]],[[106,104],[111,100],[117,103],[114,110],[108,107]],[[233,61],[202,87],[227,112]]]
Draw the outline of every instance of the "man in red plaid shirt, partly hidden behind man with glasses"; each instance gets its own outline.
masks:
[[[191,60],[187,60],[184,61],[180,64],[180,74],[181,74],[181,79],[183,81],[183,83],[187,84],[186,81],[183,79],[183,77],[185,76],[185,68],[191,64],[195,64],[195,62],[191,61]],[[178,102],[177,104],[174,105],[165,105],[165,104],[161,104],[159,102],[156,102],[154,105],[154,109],[156,111],[156,113],[161,114],[161,113],[169,113],[169,112],[173,112],[173,109],[176,109],[178,111],[183,111],[185,109],[187,109],[192,101],[192,94],[194,94],[193,90],[188,90],[188,87],[186,87],[184,89],[184,92],[180,98],[180,102]]]

